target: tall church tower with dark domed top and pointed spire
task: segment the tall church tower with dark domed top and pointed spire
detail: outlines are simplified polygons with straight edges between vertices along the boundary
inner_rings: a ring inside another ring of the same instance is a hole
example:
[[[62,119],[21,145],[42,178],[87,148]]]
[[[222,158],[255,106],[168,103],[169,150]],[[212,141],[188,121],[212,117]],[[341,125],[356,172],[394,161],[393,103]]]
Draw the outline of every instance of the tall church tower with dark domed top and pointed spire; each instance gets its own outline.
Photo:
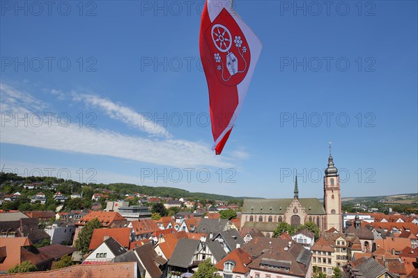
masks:
[[[324,206],[326,213],[324,228],[326,230],[334,227],[337,231],[342,232],[340,193],[339,174],[338,169],[334,166],[330,142],[330,157],[328,158],[328,167],[325,169],[324,177]]]

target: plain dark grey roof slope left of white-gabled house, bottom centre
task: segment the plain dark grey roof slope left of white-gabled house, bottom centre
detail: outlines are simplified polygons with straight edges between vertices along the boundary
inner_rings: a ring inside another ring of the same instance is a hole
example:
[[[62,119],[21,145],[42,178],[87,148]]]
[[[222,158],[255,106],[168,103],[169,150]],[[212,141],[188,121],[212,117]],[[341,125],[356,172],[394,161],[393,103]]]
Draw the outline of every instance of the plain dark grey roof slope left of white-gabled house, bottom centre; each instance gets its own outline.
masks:
[[[169,260],[169,265],[188,268],[199,244],[200,240],[180,238]]]

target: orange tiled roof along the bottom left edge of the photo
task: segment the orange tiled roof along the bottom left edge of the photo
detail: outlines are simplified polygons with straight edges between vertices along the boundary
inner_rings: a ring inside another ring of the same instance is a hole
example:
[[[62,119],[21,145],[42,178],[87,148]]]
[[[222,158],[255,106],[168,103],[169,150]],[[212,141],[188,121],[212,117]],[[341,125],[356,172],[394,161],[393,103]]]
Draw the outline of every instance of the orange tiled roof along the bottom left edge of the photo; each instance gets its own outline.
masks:
[[[1,277],[1,275],[0,275]],[[72,265],[68,268],[42,272],[26,272],[8,274],[13,278],[103,278],[124,277],[136,278],[137,266],[135,263],[106,263],[96,265]]]

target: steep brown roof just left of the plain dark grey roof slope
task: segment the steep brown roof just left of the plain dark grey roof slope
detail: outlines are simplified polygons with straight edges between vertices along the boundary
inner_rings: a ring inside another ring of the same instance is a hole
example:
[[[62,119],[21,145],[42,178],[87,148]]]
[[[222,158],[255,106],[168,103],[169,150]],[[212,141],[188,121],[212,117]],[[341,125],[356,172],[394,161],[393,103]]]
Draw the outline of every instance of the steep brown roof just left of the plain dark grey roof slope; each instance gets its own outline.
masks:
[[[141,247],[135,248],[134,251],[137,253],[137,256],[139,256],[142,265],[144,265],[144,268],[150,277],[159,278],[162,275],[162,271],[157,265],[164,265],[167,263],[167,260],[162,258],[162,256],[158,256],[153,245],[146,243]]]

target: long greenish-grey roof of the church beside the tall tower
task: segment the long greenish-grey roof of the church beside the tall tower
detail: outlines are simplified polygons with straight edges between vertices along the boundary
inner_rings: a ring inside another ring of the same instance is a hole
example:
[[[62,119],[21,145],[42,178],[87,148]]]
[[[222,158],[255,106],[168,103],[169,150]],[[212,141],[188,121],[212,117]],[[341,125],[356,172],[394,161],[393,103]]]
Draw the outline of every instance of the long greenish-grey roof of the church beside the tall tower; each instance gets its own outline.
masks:
[[[325,214],[325,208],[316,198],[299,198],[298,201],[308,214]],[[293,199],[244,199],[242,213],[247,214],[284,214]],[[251,209],[252,208],[252,209]],[[262,209],[263,208],[263,209]],[[272,209],[270,209],[272,208]],[[281,208],[281,209],[280,209]],[[311,208],[311,209],[309,209]]]

